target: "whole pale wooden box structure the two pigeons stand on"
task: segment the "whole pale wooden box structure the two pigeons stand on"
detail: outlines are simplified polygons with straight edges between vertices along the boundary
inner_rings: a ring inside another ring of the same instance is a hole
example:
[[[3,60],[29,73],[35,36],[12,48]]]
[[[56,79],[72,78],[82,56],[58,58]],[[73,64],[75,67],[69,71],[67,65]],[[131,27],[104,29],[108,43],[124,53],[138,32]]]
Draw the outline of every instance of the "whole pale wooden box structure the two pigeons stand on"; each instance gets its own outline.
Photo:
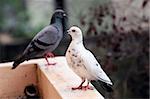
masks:
[[[12,63],[0,64],[0,96],[13,99],[23,95],[24,87],[33,83],[38,86],[42,99],[104,99],[96,89],[71,89],[78,86],[81,79],[68,67],[65,57],[49,61],[57,64],[46,67],[44,59],[34,59],[22,63],[15,70],[10,69]]]

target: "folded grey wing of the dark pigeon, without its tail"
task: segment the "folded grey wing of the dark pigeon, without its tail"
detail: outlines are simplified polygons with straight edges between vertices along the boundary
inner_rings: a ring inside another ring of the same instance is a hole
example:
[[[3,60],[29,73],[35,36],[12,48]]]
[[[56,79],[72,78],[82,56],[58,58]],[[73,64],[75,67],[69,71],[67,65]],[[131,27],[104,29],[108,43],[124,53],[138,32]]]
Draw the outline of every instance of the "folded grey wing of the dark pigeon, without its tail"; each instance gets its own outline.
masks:
[[[44,52],[50,46],[54,46],[59,38],[57,28],[53,26],[47,26],[41,30],[28,45],[24,54],[28,52]],[[40,53],[39,53],[40,54]],[[33,55],[34,56],[34,55]]]

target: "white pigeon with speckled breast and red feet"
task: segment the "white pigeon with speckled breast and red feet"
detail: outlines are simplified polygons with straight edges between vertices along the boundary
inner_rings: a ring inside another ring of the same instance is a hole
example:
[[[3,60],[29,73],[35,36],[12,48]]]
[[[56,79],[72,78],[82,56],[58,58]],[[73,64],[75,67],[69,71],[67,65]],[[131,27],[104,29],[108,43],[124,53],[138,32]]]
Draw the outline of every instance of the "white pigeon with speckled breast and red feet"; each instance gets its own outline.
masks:
[[[72,26],[67,32],[71,35],[72,41],[66,52],[66,60],[69,67],[82,79],[82,83],[78,87],[72,88],[72,90],[93,89],[89,86],[89,82],[100,81],[103,83],[102,87],[106,89],[106,91],[113,91],[111,88],[111,80],[102,70],[94,55],[84,47],[82,31],[80,28]],[[86,79],[88,83],[86,86],[83,86]]]

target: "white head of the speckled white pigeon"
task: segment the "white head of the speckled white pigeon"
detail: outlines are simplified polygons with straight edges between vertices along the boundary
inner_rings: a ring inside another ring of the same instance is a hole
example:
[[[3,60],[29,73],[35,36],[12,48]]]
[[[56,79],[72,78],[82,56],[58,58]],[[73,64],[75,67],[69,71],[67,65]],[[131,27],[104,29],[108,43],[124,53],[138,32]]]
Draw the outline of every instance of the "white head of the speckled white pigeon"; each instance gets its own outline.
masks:
[[[67,32],[71,35],[72,39],[82,40],[82,31],[79,27],[72,26]]]

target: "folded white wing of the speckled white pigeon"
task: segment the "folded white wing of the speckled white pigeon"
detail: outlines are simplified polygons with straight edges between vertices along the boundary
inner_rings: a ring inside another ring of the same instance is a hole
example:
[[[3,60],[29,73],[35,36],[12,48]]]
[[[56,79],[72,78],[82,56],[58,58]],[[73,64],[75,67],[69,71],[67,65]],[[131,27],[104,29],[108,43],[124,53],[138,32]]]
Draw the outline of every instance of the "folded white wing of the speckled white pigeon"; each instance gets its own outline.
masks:
[[[103,71],[100,64],[89,50],[82,52],[81,58],[87,71],[91,74],[92,77],[95,77],[95,80],[101,80],[102,82],[112,85],[111,80]]]

